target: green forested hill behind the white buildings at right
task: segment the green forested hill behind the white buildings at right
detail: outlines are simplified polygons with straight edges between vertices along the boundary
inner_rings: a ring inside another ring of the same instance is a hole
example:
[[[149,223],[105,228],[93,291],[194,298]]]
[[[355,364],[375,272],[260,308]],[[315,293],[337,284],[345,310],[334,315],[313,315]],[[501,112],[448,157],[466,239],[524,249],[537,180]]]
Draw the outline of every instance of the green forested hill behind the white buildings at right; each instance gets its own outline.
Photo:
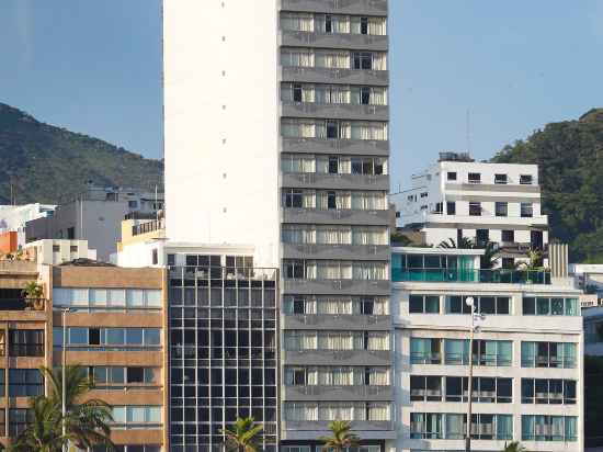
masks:
[[[548,124],[492,161],[537,163],[551,237],[569,244],[570,261],[603,263],[603,109]]]

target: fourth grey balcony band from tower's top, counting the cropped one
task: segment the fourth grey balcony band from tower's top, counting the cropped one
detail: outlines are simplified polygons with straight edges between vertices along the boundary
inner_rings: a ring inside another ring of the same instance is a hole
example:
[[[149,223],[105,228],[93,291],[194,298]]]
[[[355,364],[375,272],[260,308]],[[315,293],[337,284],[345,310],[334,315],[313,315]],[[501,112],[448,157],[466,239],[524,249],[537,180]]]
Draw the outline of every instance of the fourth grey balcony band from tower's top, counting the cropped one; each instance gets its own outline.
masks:
[[[351,103],[283,102],[281,114],[286,117],[388,121],[389,108]]]

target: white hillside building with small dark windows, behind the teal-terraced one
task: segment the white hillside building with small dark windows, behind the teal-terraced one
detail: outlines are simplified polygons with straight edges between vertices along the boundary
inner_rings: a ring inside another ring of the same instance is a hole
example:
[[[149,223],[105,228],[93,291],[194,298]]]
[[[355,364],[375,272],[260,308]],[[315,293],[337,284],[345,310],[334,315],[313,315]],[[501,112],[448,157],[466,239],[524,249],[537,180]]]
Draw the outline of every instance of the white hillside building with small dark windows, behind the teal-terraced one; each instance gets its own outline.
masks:
[[[535,165],[476,162],[466,155],[442,154],[412,177],[411,189],[390,199],[398,226],[421,230],[426,245],[459,237],[493,241],[504,250],[503,267],[548,244]]]

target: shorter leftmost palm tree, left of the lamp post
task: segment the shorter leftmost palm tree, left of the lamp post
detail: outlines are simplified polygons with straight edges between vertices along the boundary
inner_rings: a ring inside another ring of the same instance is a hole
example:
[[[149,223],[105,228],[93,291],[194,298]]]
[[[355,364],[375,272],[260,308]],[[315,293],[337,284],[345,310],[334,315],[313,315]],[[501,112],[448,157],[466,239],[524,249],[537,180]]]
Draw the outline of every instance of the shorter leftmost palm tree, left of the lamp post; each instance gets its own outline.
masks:
[[[30,399],[31,422],[8,449],[11,452],[59,452],[67,440],[61,434],[61,416],[45,396]]]

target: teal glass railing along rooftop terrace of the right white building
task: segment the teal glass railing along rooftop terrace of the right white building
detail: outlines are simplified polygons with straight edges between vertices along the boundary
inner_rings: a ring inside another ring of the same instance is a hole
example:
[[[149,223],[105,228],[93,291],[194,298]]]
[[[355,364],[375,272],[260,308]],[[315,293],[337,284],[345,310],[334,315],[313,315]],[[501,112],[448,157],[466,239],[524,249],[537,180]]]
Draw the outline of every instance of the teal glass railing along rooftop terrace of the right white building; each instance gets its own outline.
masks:
[[[507,269],[391,269],[392,282],[459,282],[494,284],[550,284],[548,270]]]

